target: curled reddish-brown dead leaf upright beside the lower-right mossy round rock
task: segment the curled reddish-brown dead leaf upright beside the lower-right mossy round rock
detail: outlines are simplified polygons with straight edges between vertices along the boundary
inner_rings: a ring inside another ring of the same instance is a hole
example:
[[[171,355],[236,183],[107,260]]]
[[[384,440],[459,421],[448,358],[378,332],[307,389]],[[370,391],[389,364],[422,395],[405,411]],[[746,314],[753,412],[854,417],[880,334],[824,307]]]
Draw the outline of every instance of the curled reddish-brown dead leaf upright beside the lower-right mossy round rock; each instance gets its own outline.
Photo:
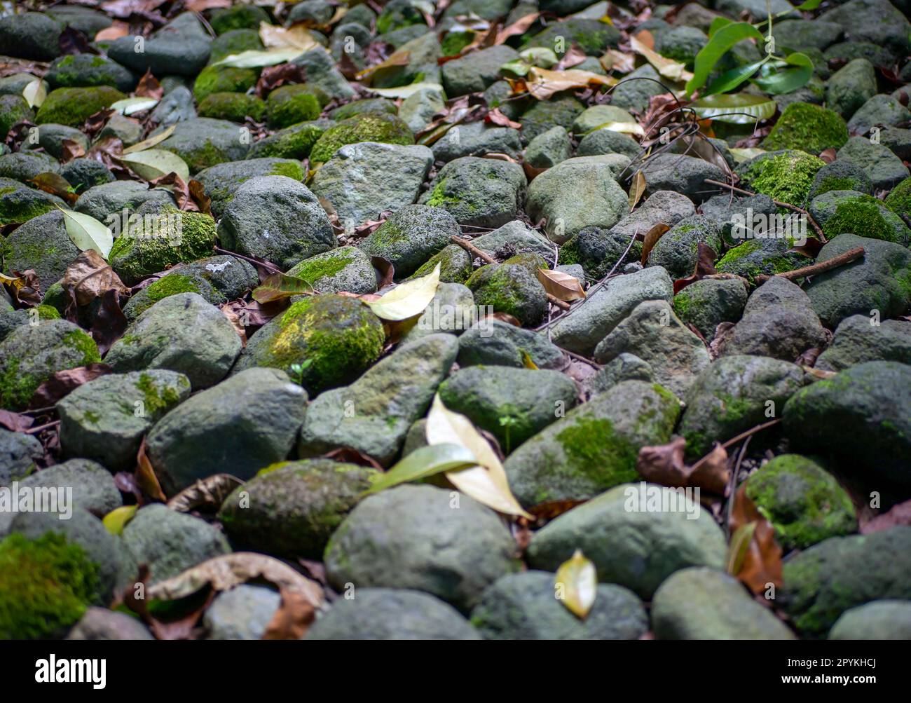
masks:
[[[739,578],[753,594],[762,594],[769,584],[776,588],[782,585],[782,548],[775,542],[774,528],[765,519],[759,509],[753,504],[746,494],[746,484],[742,484],[734,494],[731,523],[731,534],[745,526],[754,524],[752,535],[745,547],[740,550],[735,560],[738,563],[736,573],[732,576]],[[731,560],[734,561],[734,560]]]

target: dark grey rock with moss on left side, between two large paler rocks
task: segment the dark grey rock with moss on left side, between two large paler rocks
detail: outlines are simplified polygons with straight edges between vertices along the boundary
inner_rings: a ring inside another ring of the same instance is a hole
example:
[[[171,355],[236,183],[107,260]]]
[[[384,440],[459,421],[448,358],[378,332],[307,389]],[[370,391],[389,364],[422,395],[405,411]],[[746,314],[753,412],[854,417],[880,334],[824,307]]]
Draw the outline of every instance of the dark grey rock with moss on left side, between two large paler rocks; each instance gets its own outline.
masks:
[[[449,210],[460,225],[496,228],[516,219],[525,189],[518,164],[464,157],[441,168],[418,202]]]

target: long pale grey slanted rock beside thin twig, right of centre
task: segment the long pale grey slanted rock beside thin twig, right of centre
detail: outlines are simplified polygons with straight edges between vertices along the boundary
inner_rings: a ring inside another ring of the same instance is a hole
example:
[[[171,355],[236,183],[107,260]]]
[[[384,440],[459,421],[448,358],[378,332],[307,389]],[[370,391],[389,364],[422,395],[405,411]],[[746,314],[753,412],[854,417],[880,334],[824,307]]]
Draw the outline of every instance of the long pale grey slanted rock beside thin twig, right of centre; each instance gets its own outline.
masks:
[[[587,355],[643,301],[673,299],[673,284],[660,267],[618,276],[589,296],[584,305],[551,327],[558,346]]]

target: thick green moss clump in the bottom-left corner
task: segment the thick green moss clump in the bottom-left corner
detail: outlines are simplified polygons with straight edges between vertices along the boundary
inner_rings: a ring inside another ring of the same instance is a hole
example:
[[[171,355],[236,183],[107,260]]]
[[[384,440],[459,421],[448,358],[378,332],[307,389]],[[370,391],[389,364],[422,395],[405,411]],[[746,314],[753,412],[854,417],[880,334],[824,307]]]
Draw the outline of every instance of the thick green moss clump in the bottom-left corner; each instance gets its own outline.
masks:
[[[0,638],[60,637],[97,592],[97,565],[63,535],[0,542]]]

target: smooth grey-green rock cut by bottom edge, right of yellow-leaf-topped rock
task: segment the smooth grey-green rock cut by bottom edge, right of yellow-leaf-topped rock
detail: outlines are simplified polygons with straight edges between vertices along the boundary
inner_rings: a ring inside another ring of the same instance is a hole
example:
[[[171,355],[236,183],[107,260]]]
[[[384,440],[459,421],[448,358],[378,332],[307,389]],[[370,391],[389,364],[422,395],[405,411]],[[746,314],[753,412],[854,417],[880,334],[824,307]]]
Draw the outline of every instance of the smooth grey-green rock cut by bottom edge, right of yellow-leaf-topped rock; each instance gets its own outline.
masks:
[[[723,571],[693,566],[675,572],[651,606],[656,639],[794,639],[773,612]]]

